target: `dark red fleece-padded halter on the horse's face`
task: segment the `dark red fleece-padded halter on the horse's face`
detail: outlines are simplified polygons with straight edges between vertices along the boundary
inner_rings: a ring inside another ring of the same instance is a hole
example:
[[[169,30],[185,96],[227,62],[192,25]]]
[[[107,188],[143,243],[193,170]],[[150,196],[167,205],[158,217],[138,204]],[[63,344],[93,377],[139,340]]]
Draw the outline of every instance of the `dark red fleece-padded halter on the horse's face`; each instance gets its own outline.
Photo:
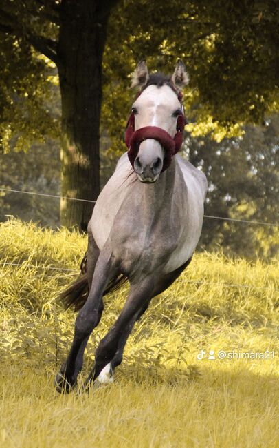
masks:
[[[140,92],[139,95],[141,93],[142,92]],[[135,131],[135,114],[134,112],[131,112],[126,125],[125,143],[126,147],[128,147],[128,157],[132,167],[134,167],[134,162],[137,157],[137,153],[139,152],[139,145],[146,139],[155,139],[164,147],[165,156],[161,172],[170,166],[172,157],[177,154],[181,148],[183,142],[183,130],[186,125],[186,119],[183,114],[182,93],[179,92],[177,97],[181,104],[181,113],[177,116],[177,133],[173,139],[168,132],[162,128],[158,128],[157,126],[145,126],[144,128],[139,128]]]

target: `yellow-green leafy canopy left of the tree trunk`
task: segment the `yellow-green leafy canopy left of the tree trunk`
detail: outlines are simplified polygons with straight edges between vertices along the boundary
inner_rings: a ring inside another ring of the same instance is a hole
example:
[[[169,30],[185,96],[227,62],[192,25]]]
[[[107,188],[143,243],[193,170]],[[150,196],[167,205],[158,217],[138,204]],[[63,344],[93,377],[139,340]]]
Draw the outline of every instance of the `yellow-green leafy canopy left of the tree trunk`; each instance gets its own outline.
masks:
[[[1,152],[8,152],[11,148],[27,151],[34,141],[43,142],[46,136],[58,136],[59,111],[56,104],[59,98],[55,65],[34,51],[31,44],[36,33],[55,35],[54,24],[47,21],[44,8],[30,0],[24,3],[1,2]],[[36,48],[38,50],[37,45]]]

